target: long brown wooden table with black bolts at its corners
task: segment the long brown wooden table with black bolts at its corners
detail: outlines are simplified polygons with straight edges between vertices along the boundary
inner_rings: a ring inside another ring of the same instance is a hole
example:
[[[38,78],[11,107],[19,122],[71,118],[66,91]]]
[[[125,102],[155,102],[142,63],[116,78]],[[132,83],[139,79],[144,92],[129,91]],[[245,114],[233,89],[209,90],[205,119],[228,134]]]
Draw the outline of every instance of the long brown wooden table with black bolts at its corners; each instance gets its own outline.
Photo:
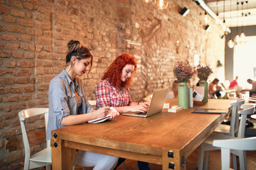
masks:
[[[168,100],[170,106],[178,104]],[[162,169],[186,169],[186,158],[227,114],[191,113],[194,108],[230,108],[233,100],[210,99],[177,113],[149,118],[120,115],[117,120],[73,125],[52,131],[53,169],[71,169],[78,149],[162,164]],[[196,162],[195,162],[196,164]]]

